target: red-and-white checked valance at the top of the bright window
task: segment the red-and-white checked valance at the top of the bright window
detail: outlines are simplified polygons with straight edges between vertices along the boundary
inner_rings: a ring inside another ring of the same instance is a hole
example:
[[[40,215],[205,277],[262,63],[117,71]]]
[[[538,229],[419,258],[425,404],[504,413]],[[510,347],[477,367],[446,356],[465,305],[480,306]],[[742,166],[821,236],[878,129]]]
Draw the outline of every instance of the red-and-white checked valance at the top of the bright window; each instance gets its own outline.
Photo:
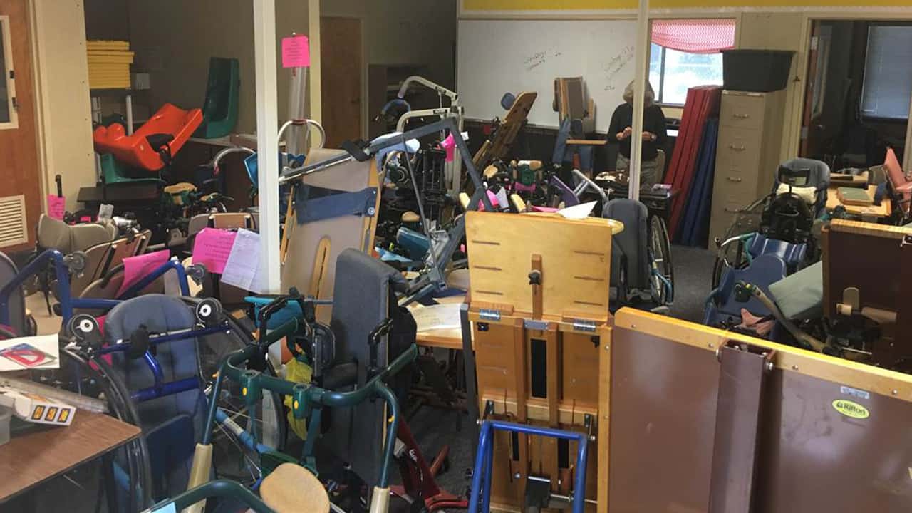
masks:
[[[735,46],[734,19],[657,19],[652,42],[692,54],[712,54]]]

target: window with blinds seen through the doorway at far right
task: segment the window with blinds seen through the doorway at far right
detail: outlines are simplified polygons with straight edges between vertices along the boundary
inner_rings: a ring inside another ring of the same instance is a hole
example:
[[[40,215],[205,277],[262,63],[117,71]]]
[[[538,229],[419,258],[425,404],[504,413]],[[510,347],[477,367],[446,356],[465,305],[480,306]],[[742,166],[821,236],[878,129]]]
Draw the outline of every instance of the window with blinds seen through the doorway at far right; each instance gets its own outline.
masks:
[[[910,97],[912,26],[870,26],[862,85],[862,115],[865,118],[907,120]]]

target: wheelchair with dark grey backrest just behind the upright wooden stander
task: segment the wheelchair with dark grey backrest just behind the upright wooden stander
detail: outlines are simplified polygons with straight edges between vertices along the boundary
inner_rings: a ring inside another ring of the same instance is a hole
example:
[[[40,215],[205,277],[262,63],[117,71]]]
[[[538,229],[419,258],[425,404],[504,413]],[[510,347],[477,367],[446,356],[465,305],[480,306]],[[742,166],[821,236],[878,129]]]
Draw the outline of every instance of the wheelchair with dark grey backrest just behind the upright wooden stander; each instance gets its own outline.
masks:
[[[674,270],[668,230],[636,200],[609,201],[602,217],[624,224],[611,239],[612,310],[622,306],[667,312],[674,299]]]

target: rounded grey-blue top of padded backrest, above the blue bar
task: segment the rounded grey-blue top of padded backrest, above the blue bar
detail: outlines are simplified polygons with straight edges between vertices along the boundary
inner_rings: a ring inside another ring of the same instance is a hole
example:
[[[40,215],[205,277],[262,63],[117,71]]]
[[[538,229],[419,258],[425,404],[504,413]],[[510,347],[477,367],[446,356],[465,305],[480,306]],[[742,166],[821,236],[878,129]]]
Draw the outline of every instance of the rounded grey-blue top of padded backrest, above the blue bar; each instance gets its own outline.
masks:
[[[110,310],[105,334],[111,340],[130,337],[140,325],[150,332],[189,330],[196,323],[193,310],[181,298],[147,294],[127,299]]]

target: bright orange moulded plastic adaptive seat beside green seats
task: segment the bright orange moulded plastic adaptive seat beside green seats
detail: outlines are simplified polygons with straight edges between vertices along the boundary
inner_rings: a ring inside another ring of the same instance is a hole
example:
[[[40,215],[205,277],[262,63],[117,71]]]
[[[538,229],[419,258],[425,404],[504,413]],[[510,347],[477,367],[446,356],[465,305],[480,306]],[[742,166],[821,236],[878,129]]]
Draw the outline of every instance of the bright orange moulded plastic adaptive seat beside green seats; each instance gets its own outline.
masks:
[[[159,171],[168,163],[165,159],[170,160],[181,150],[200,123],[202,110],[181,110],[165,103],[133,135],[127,135],[119,123],[95,129],[95,151],[113,153],[120,162]]]

